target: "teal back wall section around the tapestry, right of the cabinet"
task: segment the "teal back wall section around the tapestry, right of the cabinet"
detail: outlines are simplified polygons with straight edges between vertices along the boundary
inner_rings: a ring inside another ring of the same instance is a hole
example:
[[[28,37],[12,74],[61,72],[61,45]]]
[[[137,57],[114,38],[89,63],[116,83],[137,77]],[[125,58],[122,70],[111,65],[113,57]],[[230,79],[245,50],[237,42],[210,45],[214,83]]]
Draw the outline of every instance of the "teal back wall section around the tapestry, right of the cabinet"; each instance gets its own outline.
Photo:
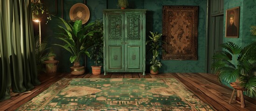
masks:
[[[163,66],[160,73],[163,72],[205,72],[205,45],[206,45],[206,16],[207,0],[145,0],[144,8],[149,10],[147,16],[147,32],[162,33],[162,6],[199,6],[199,24],[198,24],[198,60],[197,61],[179,61],[162,60]],[[149,35],[149,34],[147,34]],[[150,58],[146,58],[148,61]]]

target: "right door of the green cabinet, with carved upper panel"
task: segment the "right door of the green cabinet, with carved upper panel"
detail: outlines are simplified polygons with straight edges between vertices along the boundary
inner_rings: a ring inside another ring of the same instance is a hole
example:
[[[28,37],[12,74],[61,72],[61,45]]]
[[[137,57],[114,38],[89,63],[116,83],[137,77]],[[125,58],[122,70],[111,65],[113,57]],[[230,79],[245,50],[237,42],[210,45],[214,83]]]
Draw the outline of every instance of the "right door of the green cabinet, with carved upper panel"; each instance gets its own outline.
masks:
[[[125,71],[142,71],[143,14],[125,13]]]

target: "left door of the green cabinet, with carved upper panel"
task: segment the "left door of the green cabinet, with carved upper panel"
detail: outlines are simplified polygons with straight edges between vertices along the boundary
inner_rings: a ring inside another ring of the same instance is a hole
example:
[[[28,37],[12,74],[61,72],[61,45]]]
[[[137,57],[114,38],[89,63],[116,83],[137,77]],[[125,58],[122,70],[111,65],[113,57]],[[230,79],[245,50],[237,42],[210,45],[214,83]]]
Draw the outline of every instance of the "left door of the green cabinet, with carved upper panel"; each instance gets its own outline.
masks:
[[[125,19],[123,13],[106,14],[106,65],[112,72],[124,71]]]

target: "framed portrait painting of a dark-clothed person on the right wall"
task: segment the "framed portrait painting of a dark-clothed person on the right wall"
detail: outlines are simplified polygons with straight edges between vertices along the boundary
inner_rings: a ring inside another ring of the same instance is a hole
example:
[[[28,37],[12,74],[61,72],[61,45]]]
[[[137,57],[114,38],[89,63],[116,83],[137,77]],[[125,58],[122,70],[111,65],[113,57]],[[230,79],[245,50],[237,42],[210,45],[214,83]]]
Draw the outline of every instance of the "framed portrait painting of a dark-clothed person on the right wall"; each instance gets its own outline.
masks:
[[[225,37],[239,37],[240,7],[234,7],[226,11],[226,31]]]

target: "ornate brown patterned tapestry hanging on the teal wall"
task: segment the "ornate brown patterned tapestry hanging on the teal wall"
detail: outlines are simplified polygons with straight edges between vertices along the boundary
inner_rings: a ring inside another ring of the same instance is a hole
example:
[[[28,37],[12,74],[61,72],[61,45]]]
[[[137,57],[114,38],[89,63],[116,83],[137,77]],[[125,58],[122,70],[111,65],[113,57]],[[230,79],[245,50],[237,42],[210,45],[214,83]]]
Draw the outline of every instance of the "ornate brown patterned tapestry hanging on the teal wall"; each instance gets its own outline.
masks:
[[[198,6],[163,6],[163,60],[197,60]]]

